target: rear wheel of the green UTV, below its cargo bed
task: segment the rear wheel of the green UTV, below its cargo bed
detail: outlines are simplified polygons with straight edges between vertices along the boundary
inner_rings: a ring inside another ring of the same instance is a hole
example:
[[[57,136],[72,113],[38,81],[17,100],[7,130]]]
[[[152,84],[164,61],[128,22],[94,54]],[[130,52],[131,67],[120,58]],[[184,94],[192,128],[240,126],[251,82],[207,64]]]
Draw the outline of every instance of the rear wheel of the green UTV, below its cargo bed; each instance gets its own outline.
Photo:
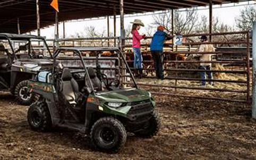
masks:
[[[29,126],[35,131],[47,131],[52,126],[50,112],[43,100],[30,105],[28,110]]]

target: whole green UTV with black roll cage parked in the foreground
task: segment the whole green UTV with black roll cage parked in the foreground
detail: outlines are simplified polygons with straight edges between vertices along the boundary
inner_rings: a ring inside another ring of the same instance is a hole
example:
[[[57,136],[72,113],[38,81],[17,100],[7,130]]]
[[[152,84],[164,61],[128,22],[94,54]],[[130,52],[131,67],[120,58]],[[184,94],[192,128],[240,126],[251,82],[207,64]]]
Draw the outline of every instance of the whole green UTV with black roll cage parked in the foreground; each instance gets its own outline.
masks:
[[[112,57],[103,57],[106,51]],[[88,52],[96,57],[85,57]],[[28,110],[33,130],[79,131],[90,135],[93,147],[110,153],[122,149],[127,132],[144,138],[157,134],[156,103],[137,87],[118,48],[59,48],[53,58],[52,69],[39,72],[29,83],[30,92],[40,96]],[[121,85],[121,67],[131,76],[130,88]]]

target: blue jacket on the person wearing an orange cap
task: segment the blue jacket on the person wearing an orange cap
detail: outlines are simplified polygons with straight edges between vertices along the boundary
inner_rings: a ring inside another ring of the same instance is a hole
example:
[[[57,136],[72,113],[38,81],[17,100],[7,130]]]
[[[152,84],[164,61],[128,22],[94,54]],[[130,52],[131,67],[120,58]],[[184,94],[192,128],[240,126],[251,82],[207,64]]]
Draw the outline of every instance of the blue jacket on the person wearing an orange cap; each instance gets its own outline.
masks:
[[[165,38],[167,34],[163,31],[157,31],[152,38],[152,42],[150,45],[151,51],[163,51]]]

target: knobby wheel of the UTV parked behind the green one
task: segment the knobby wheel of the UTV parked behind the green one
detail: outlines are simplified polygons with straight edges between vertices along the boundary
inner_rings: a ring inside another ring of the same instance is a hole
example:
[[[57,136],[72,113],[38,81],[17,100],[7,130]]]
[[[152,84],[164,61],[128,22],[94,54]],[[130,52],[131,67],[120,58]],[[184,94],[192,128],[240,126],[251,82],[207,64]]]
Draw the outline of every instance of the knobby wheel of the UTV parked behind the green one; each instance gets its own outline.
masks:
[[[35,100],[35,95],[29,93],[28,82],[22,81],[15,87],[14,95],[16,100],[22,105],[30,105]]]

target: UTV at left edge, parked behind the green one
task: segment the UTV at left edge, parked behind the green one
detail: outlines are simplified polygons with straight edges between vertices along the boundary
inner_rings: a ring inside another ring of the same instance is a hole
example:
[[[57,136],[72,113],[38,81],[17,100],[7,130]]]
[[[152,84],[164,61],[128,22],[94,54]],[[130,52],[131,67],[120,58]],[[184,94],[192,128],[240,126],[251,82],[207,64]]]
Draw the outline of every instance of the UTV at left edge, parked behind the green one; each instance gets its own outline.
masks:
[[[44,37],[0,33],[0,91],[10,91],[20,104],[30,105],[28,80],[52,66],[52,55]]]

